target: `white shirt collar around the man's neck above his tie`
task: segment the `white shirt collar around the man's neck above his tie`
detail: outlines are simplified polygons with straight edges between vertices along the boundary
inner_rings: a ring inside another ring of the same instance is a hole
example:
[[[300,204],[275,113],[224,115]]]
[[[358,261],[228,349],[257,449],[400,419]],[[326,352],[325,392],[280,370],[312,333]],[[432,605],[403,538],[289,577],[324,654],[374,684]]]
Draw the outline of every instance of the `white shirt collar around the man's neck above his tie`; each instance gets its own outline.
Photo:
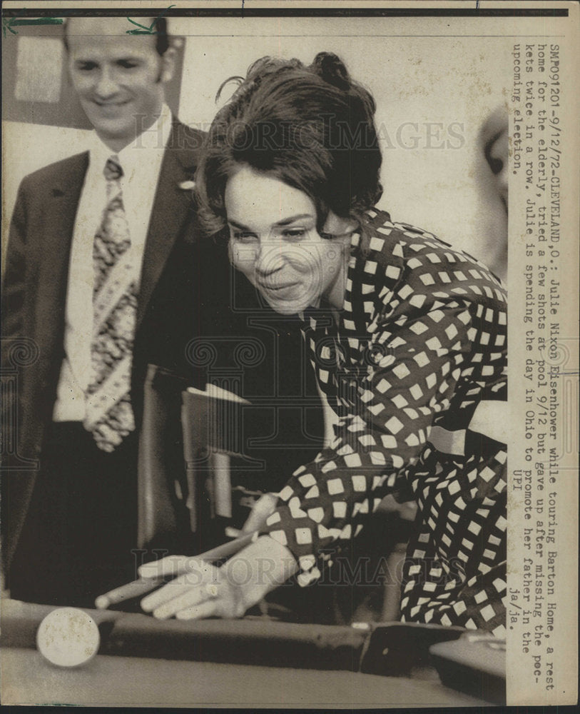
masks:
[[[136,166],[146,166],[153,158],[151,154],[158,155],[166,149],[171,134],[171,110],[167,104],[163,104],[161,114],[156,121],[136,136],[131,144],[128,144],[121,151],[113,151],[93,132],[91,136],[91,146],[89,146],[90,162],[93,169],[102,171],[107,159],[111,156],[118,156],[119,164],[123,167],[123,174],[130,176]]]

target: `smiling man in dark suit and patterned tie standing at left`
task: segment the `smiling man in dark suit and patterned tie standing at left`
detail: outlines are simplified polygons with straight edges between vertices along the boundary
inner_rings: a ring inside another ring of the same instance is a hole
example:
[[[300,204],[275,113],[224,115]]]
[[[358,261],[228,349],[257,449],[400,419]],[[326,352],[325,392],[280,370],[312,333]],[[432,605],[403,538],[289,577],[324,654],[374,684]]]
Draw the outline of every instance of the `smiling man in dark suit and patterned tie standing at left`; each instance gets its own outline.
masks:
[[[163,21],[157,35],[126,29],[121,18],[68,22],[94,141],[27,176],[11,223],[2,348],[19,373],[2,506],[14,598],[91,605],[132,577],[147,364],[195,383],[186,347],[210,259],[191,198],[203,133],[165,104],[174,50]]]

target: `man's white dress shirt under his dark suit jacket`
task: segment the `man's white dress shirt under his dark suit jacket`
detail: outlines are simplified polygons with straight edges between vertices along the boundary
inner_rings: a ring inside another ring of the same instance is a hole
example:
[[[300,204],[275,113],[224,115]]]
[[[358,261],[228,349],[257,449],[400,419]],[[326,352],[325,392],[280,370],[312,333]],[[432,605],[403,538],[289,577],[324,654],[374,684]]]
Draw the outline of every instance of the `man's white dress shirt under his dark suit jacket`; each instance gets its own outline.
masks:
[[[93,240],[107,205],[103,174],[106,161],[117,156],[123,169],[123,206],[131,236],[131,261],[139,279],[159,171],[170,134],[171,111],[166,104],[155,124],[121,151],[111,151],[93,134],[71,245],[64,328],[66,357],[58,379],[54,421],[85,418],[85,391],[91,381]]]

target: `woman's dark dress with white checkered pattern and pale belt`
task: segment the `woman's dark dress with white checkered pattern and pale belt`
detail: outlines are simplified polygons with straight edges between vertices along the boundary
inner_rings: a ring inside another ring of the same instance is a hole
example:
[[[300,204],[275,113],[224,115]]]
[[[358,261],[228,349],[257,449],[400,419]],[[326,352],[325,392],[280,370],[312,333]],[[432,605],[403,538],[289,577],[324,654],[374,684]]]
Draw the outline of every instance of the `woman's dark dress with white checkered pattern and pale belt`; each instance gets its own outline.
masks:
[[[352,246],[340,323],[320,309],[303,326],[335,439],[295,471],[263,533],[307,585],[384,496],[414,500],[402,619],[502,636],[507,447],[486,424],[507,398],[506,293],[475,258],[381,211]]]

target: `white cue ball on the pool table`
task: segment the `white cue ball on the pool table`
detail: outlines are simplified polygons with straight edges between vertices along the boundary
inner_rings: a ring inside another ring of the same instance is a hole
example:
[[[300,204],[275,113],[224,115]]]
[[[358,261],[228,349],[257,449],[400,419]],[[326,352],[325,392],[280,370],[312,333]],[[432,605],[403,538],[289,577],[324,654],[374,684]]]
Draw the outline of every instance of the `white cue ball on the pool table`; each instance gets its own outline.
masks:
[[[58,667],[78,667],[97,653],[101,635],[91,615],[78,608],[57,608],[36,633],[41,655]]]

